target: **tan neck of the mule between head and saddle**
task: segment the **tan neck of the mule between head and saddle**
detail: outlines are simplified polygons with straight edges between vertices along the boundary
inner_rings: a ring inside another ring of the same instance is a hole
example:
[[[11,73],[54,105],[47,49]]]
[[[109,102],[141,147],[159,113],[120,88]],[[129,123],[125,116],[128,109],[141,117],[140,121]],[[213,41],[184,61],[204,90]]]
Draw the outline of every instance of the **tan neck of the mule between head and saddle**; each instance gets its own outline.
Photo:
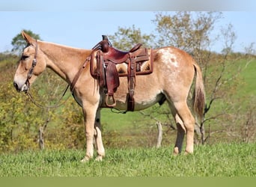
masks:
[[[91,52],[91,50],[45,42],[42,43],[41,50],[48,58],[47,67],[55,71],[58,76],[61,76],[68,83],[72,82],[85,58]]]

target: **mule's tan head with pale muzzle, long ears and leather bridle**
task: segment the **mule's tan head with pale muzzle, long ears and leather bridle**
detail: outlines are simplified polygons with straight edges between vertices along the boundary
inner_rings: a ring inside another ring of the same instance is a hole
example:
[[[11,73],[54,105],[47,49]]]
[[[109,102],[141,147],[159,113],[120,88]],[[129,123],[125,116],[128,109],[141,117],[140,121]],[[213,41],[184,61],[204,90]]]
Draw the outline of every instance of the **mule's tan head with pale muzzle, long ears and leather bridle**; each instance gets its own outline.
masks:
[[[29,86],[37,76],[46,69],[46,59],[43,57],[43,52],[40,52],[37,40],[34,40],[24,31],[22,31],[22,37],[28,45],[22,52],[14,75],[13,86],[16,88],[16,91],[28,91]]]

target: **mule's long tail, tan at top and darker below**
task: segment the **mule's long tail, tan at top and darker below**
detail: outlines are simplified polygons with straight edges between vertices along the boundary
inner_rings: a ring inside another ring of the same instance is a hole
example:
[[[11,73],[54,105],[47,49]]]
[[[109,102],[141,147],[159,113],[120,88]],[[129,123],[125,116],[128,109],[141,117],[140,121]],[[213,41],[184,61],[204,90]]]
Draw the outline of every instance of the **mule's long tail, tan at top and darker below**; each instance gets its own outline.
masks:
[[[200,67],[195,63],[193,65],[195,67],[196,79],[192,103],[194,104],[194,111],[202,119],[205,107],[204,83]]]

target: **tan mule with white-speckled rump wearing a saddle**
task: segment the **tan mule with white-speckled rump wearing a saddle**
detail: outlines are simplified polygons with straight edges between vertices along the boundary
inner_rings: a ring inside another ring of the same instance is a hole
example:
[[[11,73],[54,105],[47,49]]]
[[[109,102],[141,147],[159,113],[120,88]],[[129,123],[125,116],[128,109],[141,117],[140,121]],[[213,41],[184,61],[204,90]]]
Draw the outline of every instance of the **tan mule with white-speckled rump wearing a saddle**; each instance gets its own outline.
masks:
[[[105,150],[100,132],[100,108],[104,107],[103,100],[105,100],[106,94],[95,84],[95,79],[90,73],[90,63],[84,64],[91,50],[37,41],[25,32],[22,32],[22,37],[28,46],[22,52],[14,76],[13,85],[17,91],[28,91],[29,86],[46,67],[71,84],[84,65],[73,88],[73,96],[82,106],[85,120],[87,150],[82,162],[88,161],[94,155],[93,138],[96,140],[96,159],[102,160]],[[182,150],[185,134],[185,152],[193,153],[195,118],[186,102],[194,76],[196,79],[193,108],[198,117],[201,117],[205,102],[201,70],[186,52],[174,47],[153,49],[153,73],[147,76],[136,76],[135,111],[150,107],[156,102],[161,102],[162,99],[166,99],[168,102],[171,114],[177,123],[174,154],[178,154]],[[115,108],[127,110],[127,78],[120,78],[120,86],[115,92],[115,99]]]

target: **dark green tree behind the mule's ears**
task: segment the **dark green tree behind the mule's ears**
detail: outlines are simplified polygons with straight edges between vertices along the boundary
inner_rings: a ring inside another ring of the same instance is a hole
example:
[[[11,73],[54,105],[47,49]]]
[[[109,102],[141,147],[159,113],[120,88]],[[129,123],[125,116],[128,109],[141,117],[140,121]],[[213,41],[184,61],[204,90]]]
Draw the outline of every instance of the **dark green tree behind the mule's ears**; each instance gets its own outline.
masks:
[[[34,34],[31,30],[24,29],[24,31],[34,39],[41,40],[39,34]],[[11,45],[13,45],[13,49],[11,49],[11,51],[16,54],[20,54],[22,50],[25,48],[25,46],[27,45],[27,43],[23,39],[22,34],[19,33],[16,35],[16,37],[13,37],[13,40],[11,41]]]

